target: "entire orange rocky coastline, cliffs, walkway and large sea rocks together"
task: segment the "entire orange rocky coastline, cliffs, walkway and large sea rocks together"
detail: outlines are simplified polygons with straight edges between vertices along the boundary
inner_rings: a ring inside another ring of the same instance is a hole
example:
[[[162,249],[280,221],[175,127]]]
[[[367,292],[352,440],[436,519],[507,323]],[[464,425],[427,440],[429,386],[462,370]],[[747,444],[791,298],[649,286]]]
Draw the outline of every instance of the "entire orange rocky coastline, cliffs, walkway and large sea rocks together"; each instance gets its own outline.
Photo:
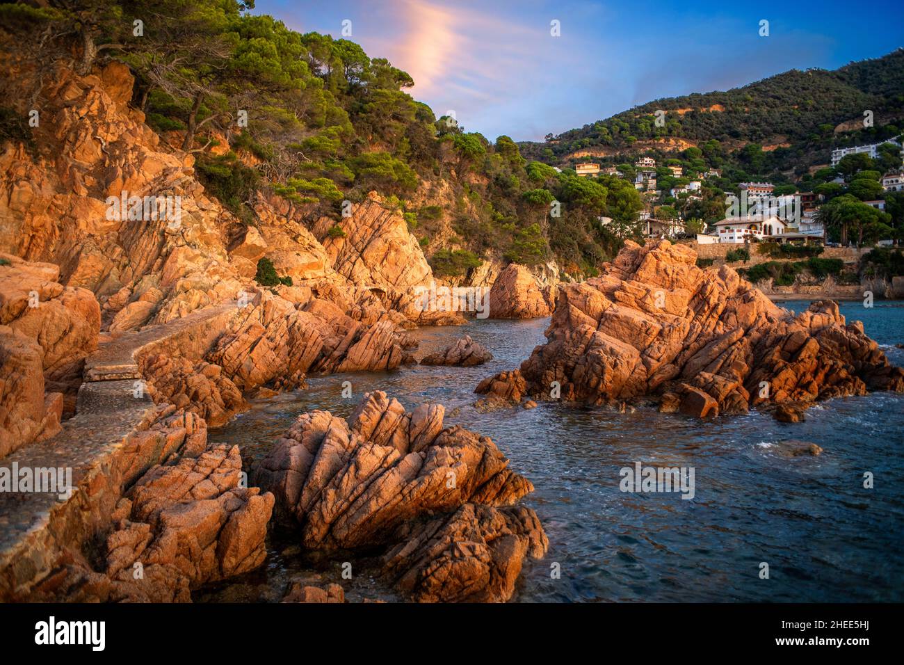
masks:
[[[338,222],[256,195],[242,223],[129,106],[133,85],[118,62],[61,67],[41,90],[40,156],[0,154],[0,469],[73,479],[63,499],[0,493],[0,600],[188,602],[259,568],[277,522],[306,549],[378,551],[407,599],[510,600],[548,546],[521,503],[532,483],[488,437],[444,426],[441,404],[408,412],[376,391],[348,419],[300,413],[251,477],[238,447],[208,441],[251,396],[417,364],[412,328],[465,318],[422,306],[438,278],[380,195]],[[178,196],[181,219],[110,219],[123,191]],[[262,259],[280,283],[255,279]],[[712,417],[904,391],[834,303],[792,317],[695,259],[626,242],[598,278],[542,286],[506,266],[490,316],[551,325],[520,368],[478,386],[481,408],[643,398]],[[463,337],[420,362],[491,358]],[[295,584],[286,600],[342,598]]]

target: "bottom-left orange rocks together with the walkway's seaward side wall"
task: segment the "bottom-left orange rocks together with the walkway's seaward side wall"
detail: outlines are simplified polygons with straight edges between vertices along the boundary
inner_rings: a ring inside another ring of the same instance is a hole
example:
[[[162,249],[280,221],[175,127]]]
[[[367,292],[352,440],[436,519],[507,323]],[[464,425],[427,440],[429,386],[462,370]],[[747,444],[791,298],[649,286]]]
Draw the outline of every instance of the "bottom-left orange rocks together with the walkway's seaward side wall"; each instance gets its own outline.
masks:
[[[146,418],[4,559],[0,600],[188,602],[263,562],[274,499],[244,487],[238,447],[172,405]]]

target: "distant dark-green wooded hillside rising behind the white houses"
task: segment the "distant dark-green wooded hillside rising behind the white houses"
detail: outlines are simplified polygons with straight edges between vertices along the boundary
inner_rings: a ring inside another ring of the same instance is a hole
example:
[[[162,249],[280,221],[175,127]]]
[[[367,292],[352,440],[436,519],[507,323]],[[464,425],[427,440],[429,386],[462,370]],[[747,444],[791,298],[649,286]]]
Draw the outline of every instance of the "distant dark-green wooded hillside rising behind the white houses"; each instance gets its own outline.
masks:
[[[655,124],[660,109],[663,127]],[[873,111],[872,128],[862,127],[865,109]],[[667,154],[693,145],[743,165],[737,151],[755,144],[767,153],[757,175],[794,169],[800,175],[806,167],[827,163],[833,147],[896,136],[902,118],[904,49],[899,49],[835,71],[792,70],[733,90],[650,101],[546,143],[519,145],[525,157],[550,164],[586,155]]]

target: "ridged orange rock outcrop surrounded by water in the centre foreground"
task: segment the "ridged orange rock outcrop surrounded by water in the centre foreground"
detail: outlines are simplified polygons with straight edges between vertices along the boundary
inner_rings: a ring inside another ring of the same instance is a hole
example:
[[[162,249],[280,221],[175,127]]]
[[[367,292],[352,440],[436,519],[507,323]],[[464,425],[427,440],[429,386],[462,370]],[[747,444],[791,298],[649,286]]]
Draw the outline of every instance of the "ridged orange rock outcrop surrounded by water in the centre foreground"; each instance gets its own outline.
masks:
[[[348,422],[304,413],[256,480],[306,547],[404,542],[387,565],[413,597],[506,600],[523,556],[542,556],[547,543],[532,510],[494,507],[513,505],[532,485],[490,439],[444,429],[443,414],[428,404],[406,413],[379,391],[365,394]],[[438,513],[447,517],[434,524]],[[460,534],[469,535],[465,549],[456,545]],[[441,572],[430,581],[429,570]]]

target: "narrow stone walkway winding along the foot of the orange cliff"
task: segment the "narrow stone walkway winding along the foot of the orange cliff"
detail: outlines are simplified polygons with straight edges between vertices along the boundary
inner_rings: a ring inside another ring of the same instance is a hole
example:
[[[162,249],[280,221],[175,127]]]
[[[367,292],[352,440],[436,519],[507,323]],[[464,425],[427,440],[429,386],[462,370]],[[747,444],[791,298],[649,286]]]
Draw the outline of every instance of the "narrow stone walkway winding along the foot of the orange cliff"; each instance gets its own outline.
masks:
[[[135,390],[140,356],[200,358],[239,312],[235,303],[226,303],[167,324],[104,336],[85,361],[76,415],[56,436],[0,460],[0,482],[3,474],[11,480],[14,470],[62,469],[61,483],[71,470],[73,489],[61,498],[57,492],[0,486],[0,598],[30,588],[59,565],[66,547],[90,542],[123,489],[161,461],[165,435],[145,432],[158,410],[146,391]]]

